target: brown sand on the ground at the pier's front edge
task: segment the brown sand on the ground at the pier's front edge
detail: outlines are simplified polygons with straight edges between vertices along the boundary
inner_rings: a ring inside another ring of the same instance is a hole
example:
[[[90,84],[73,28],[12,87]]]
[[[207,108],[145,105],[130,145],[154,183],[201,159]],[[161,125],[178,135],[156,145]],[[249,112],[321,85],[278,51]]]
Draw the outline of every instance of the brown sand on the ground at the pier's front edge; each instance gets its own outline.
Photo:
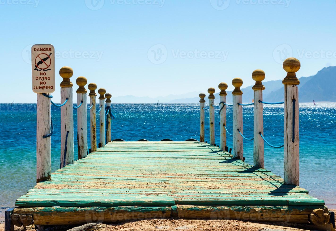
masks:
[[[143,220],[143,221],[126,221],[119,224],[98,224],[97,231],[150,231],[150,230],[195,230],[195,231],[233,231],[233,230],[249,230],[249,231],[259,231],[259,230],[303,230],[287,227],[286,223],[252,223],[244,221],[235,220]],[[34,227],[34,226],[33,226]],[[4,230],[4,224],[1,224],[0,230]],[[17,228],[15,231],[34,231],[34,228]]]

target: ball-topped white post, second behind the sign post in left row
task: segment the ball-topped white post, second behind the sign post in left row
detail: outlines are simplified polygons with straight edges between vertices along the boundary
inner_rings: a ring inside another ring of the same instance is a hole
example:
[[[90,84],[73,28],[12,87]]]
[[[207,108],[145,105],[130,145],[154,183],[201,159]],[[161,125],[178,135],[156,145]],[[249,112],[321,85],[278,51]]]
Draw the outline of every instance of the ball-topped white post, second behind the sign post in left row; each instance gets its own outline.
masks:
[[[82,103],[82,106],[77,108],[77,142],[78,142],[78,159],[87,157],[87,106],[86,97],[87,91],[84,86],[87,84],[87,79],[83,76],[76,80],[79,86],[77,93],[77,105]]]

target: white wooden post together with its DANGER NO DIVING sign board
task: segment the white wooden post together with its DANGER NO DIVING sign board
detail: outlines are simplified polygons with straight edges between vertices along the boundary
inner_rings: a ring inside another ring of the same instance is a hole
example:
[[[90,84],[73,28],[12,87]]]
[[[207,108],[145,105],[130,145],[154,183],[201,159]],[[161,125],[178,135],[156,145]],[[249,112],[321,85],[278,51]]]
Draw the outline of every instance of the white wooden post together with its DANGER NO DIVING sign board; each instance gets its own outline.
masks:
[[[51,174],[51,108],[50,96],[55,91],[55,49],[52,45],[32,46],[32,88],[37,93],[36,182],[50,180]]]

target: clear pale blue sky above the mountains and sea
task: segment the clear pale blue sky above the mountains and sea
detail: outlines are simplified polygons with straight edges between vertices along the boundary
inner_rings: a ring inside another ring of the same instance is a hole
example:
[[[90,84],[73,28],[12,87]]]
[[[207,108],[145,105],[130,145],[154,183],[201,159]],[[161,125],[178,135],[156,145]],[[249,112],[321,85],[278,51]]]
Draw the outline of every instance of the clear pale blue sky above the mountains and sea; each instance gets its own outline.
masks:
[[[56,70],[113,97],[230,90],[259,68],[282,79],[287,56],[301,61],[298,77],[313,75],[336,65],[335,11],[335,0],[0,0],[1,103],[36,102],[33,44],[54,45]]]

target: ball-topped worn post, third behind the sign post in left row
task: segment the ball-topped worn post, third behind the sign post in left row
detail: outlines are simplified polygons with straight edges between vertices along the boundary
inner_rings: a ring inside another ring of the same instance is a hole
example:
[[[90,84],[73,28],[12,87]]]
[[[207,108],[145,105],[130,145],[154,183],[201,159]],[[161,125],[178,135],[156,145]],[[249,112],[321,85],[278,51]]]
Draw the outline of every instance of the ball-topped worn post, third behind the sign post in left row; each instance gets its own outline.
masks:
[[[97,151],[97,122],[96,122],[96,92],[94,90],[97,89],[97,84],[90,83],[88,85],[90,90],[89,97],[90,97],[90,141],[91,141],[91,151]]]

